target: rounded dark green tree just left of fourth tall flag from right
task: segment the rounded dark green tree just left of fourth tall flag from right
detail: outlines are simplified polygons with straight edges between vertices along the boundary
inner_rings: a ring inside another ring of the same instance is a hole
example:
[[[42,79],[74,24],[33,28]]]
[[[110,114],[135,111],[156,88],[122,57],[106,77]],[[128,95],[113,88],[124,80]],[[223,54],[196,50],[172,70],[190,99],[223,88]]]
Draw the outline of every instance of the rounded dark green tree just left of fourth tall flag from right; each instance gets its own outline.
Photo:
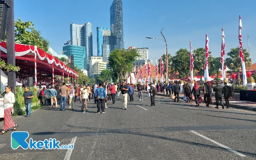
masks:
[[[179,73],[178,78],[190,75],[190,52],[188,49],[179,49],[172,57],[172,70]]]

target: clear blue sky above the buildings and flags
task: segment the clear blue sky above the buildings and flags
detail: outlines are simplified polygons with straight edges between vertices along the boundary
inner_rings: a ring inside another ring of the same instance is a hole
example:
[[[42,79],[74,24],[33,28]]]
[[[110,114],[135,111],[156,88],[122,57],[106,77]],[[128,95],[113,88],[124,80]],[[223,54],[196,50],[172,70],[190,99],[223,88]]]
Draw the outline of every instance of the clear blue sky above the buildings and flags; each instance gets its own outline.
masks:
[[[93,25],[93,55],[97,55],[96,27],[110,28],[110,6],[113,0],[15,0],[15,20],[32,21],[35,29],[50,41],[50,47],[59,53],[70,40],[70,24]],[[221,55],[221,28],[225,34],[225,52],[238,47],[239,15],[242,21],[243,47],[250,39],[252,62],[256,63],[256,0],[123,0],[123,26],[125,48],[148,47],[148,57],[166,53],[163,41],[145,37],[163,38],[172,56],[180,48],[189,50],[205,47],[205,34],[209,50],[214,57]],[[224,55],[227,58],[227,55]]]

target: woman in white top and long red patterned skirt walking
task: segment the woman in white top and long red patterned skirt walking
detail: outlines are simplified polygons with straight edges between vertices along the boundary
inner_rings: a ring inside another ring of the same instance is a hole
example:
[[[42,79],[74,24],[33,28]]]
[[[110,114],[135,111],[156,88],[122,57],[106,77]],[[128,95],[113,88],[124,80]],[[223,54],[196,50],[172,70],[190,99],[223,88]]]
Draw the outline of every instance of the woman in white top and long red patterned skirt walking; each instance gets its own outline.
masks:
[[[7,132],[7,129],[13,127],[13,131],[16,131],[16,128],[18,127],[17,124],[15,124],[12,120],[11,113],[13,109],[13,104],[15,103],[15,96],[14,93],[12,93],[12,86],[6,86],[5,87],[6,94],[4,95],[3,99],[3,108],[4,108],[4,123],[3,123],[3,131],[0,134],[5,134]]]

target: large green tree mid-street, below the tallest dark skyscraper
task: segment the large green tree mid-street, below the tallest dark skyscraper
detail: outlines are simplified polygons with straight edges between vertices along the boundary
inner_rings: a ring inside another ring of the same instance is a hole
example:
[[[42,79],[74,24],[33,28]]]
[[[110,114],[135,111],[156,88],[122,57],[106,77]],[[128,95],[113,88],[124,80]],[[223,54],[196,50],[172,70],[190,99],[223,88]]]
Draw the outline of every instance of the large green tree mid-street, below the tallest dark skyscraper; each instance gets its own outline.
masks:
[[[125,74],[132,71],[132,62],[136,57],[140,57],[136,49],[115,49],[109,54],[108,67],[113,73],[117,73],[117,81],[121,82]]]

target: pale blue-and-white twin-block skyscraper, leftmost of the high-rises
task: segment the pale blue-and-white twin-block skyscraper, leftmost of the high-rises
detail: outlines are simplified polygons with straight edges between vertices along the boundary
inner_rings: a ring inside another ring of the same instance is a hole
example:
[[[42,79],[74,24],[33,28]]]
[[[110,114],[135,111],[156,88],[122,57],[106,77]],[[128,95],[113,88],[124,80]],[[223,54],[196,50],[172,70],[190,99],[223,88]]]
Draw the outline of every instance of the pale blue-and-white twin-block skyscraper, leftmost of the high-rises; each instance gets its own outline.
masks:
[[[85,68],[90,75],[90,57],[93,56],[93,25],[90,22],[84,25],[70,24],[70,44],[85,47]]]

